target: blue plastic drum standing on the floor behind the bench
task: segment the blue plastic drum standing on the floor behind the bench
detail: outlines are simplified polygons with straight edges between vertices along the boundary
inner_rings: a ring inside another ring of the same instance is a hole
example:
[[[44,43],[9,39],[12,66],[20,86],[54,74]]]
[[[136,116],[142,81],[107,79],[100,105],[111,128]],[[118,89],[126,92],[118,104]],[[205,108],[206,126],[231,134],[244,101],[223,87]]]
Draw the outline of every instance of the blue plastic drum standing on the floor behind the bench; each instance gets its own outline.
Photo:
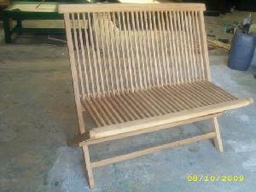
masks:
[[[237,32],[232,40],[229,67],[246,71],[253,58],[255,43],[255,36]]]

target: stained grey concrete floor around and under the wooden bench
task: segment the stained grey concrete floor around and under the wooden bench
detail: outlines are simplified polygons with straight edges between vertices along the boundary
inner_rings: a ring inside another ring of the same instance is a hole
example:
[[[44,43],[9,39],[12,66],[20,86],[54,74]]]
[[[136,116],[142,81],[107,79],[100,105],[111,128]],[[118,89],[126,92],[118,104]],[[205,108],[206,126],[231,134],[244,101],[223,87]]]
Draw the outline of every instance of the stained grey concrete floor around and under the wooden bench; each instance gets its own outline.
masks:
[[[243,15],[236,16],[240,20]],[[221,31],[221,23],[233,19],[234,15],[207,18],[207,32],[230,38]],[[22,35],[7,45],[2,29],[0,37],[0,191],[90,191],[82,150],[67,146],[78,134],[78,125],[66,44],[45,36]],[[210,51],[213,82],[235,96],[252,96],[256,101],[256,69],[230,70],[227,55],[223,49]],[[94,170],[93,191],[255,191],[255,115],[253,104],[219,118],[223,154],[205,141],[103,166]],[[97,144],[90,152],[92,160],[100,160],[209,130],[209,123],[201,122]],[[189,173],[244,175],[246,180],[189,183]]]

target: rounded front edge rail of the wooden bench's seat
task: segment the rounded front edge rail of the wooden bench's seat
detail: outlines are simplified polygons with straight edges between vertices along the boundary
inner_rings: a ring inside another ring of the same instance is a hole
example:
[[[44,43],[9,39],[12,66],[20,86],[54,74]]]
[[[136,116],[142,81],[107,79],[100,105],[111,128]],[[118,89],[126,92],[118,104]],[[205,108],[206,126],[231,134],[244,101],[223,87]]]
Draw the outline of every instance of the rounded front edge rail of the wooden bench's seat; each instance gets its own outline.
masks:
[[[201,108],[191,108],[177,113],[168,113],[154,118],[138,119],[119,125],[108,125],[90,131],[91,138],[108,137],[129,131],[137,131],[152,126],[171,124],[177,121],[193,119],[196,117],[221,113],[225,110],[241,108],[253,102],[253,98],[238,99],[230,102],[218,103]]]

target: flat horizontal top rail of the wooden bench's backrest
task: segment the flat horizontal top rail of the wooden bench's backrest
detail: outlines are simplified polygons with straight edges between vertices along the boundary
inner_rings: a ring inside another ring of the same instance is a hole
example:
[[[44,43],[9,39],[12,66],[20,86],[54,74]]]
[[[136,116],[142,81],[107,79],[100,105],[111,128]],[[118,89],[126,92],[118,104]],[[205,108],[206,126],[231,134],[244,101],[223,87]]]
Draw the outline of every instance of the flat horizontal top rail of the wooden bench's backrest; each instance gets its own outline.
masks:
[[[122,11],[205,11],[203,3],[102,3],[102,4],[61,4],[59,13],[99,13]]]

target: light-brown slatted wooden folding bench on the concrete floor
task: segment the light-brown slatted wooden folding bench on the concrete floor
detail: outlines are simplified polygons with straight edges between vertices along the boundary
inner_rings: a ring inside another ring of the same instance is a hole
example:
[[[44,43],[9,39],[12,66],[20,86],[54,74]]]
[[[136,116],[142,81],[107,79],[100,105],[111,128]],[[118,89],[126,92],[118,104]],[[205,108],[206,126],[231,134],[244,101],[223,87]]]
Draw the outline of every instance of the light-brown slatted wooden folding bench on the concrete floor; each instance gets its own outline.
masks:
[[[201,3],[60,5],[90,188],[98,166],[206,139],[223,151],[218,115],[253,99],[212,84],[204,10]],[[204,119],[212,121],[207,134],[90,162],[91,144]]]

